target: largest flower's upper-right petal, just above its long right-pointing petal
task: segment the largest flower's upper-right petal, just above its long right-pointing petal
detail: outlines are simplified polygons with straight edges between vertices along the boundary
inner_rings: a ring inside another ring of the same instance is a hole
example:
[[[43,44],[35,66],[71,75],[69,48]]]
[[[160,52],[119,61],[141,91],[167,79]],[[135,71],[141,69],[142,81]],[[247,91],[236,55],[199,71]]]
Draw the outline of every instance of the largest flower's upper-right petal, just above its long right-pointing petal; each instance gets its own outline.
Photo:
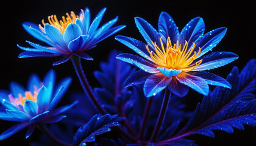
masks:
[[[198,52],[199,47],[201,47],[201,53],[197,58],[201,57],[209,50],[212,50],[213,47],[215,47],[219,43],[219,41],[222,40],[226,32],[226,27],[219,27],[218,29],[214,29],[206,33],[204,36],[199,37],[199,39],[194,42],[196,44],[194,51]]]

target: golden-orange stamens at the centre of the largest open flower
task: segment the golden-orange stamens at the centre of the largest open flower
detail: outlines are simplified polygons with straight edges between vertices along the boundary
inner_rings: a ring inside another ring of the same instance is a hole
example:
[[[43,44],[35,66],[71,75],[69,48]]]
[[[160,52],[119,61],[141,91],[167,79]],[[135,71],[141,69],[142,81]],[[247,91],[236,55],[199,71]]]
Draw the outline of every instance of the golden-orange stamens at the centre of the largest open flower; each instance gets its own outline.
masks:
[[[193,47],[188,49],[188,42],[185,41],[185,44],[183,48],[181,49],[181,46],[179,44],[179,41],[177,41],[177,44],[174,44],[172,46],[171,40],[168,37],[166,47],[163,45],[162,37],[160,38],[161,41],[161,47],[157,46],[156,43],[152,44],[155,47],[155,52],[149,51],[149,45],[146,45],[146,49],[148,50],[152,60],[155,64],[157,64],[160,68],[167,68],[167,69],[176,69],[181,70],[183,72],[190,72],[193,71],[196,66],[199,66],[199,64],[202,63],[202,60],[196,61],[196,63],[193,63],[193,61],[198,57],[198,55],[201,53],[201,48],[199,47],[199,51],[196,53],[194,51],[194,54],[192,54],[194,47],[196,45],[193,43]]]

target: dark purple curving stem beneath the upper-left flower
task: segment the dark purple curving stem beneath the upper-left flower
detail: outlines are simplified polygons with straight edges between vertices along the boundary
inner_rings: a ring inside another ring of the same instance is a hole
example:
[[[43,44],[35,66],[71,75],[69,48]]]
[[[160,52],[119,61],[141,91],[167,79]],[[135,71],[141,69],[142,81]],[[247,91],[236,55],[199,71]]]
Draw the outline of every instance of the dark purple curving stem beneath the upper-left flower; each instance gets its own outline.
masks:
[[[107,112],[105,111],[105,109],[102,108],[101,104],[98,102],[98,100],[96,99],[96,97],[93,94],[93,91],[89,85],[89,83],[87,82],[87,78],[85,77],[84,71],[82,69],[82,65],[80,63],[80,58],[76,57],[75,55],[73,55],[73,57],[71,58],[72,63],[74,65],[74,68],[76,70],[76,74],[80,80],[80,83],[85,91],[85,93],[88,94],[88,96],[90,97],[91,101],[94,103],[94,105],[99,109],[99,112],[101,114],[107,114]]]

